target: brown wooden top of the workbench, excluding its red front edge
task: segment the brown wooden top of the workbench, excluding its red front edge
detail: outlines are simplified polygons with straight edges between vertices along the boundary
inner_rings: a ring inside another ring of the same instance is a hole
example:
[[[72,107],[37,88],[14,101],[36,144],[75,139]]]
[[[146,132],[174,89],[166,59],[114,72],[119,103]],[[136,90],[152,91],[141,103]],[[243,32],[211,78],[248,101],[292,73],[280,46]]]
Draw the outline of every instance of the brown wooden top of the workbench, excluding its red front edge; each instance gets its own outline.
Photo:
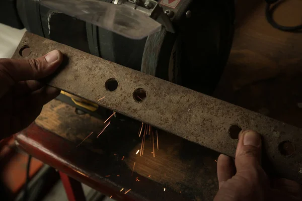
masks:
[[[264,7],[263,0],[238,1],[234,46],[214,95],[302,127],[299,104],[302,103],[302,33],[285,33],[272,28],[266,22]],[[286,1],[274,16],[281,24],[301,24],[301,9],[302,1]],[[100,156],[114,157],[116,161],[124,156],[121,163],[130,172],[135,162],[135,176],[120,175],[119,181],[114,180],[120,182],[119,185],[123,176],[135,183],[139,175],[162,185],[167,193],[178,193],[180,199],[212,200],[218,189],[215,162],[218,153],[159,131],[159,150],[155,144],[155,158],[151,136],[146,139],[143,156],[139,156],[135,153],[141,145],[137,135],[140,123],[113,117],[110,127],[97,139],[103,122],[87,114],[78,115],[73,107],[59,100],[47,104],[36,120],[40,127],[74,142],[74,147],[94,131],[78,149],[87,148]],[[165,199],[170,200],[169,196]]]

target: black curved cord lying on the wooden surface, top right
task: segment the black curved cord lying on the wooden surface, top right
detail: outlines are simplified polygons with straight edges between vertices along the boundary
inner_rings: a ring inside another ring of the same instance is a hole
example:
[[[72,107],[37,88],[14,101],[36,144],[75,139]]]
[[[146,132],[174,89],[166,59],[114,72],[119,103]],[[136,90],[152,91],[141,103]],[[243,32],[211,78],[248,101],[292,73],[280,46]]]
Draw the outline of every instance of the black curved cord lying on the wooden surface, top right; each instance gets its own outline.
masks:
[[[302,31],[302,25],[287,27],[287,26],[279,25],[278,23],[275,22],[275,20],[273,19],[273,13],[274,13],[275,9],[282,3],[282,1],[279,1],[278,3],[273,5],[272,7],[271,7],[271,4],[276,2],[276,1],[266,0],[266,2],[267,2],[267,5],[266,5],[266,8],[265,8],[265,16],[266,16],[266,20],[268,21],[268,23],[270,25],[272,25],[276,29],[279,29],[281,31],[286,31],[286,32]]]

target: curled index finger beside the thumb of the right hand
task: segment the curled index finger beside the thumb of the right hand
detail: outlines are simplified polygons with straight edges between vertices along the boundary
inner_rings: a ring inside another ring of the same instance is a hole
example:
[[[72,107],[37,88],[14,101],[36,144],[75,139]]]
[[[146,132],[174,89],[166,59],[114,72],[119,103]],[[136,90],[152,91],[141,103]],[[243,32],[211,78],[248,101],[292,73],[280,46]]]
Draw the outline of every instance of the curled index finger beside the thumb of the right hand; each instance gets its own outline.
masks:
[[[236,173],[235,164],[233,159],[229,156],[220,154],[217,160],[217,177],[219,189],[222,184],[231,179]]]

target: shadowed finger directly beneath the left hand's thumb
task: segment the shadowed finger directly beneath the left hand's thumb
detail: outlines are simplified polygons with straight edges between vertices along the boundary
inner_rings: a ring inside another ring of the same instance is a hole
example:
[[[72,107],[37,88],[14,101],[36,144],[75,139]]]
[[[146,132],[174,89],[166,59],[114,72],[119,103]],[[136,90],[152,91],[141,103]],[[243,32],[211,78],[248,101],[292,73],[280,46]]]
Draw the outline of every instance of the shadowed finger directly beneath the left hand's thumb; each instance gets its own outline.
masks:
[[[13,95],[14,97],[20,97],[35,90],[38,90],[43,86],[45,86],[45,84],[37,80],[20,81],[14,86]]]

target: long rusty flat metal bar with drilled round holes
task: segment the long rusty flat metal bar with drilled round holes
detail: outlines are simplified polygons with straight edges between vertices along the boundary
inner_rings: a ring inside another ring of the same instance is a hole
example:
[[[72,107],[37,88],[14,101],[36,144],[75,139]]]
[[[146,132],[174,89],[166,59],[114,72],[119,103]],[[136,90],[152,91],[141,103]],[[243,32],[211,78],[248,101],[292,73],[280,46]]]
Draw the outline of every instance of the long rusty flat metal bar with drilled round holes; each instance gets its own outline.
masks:
[[[237,140],[228,134],[232,125],[253,129],[263,136],[269,171],[302,183],[302,129],[30,33],[25,33],[14,58],[22,58],[19,50],[25,45],[31,48],[30,58],[53,49],[68,57],[50,85],[218,152],[234,157]],[[114,91],[105,88],[110,78],[118,81]],[[147,94],[140,103],[133,99],[137,88]],[[294,146],[290,156],[279,151],[284,141]]]

